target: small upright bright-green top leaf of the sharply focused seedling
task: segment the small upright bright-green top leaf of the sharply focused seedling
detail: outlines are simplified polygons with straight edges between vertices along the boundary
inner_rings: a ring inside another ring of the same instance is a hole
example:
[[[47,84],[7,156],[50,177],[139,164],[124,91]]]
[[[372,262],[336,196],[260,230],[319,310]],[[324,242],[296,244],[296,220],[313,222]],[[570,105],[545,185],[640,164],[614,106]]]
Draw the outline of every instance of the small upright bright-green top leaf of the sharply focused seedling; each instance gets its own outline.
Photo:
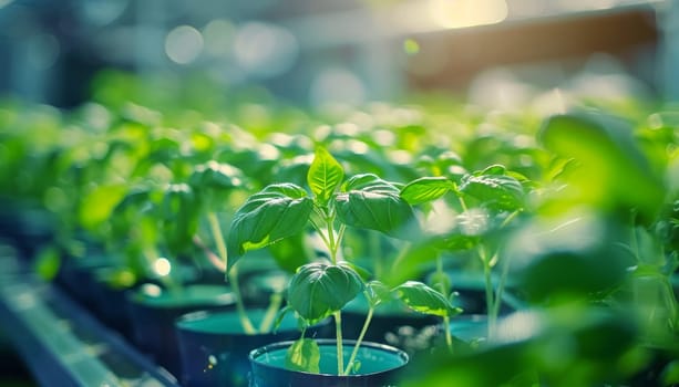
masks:
[[[319,205],[326,206],[344,178],[342,166],[323,147],[316,148],[316,156],[307,174],[307,182]]]

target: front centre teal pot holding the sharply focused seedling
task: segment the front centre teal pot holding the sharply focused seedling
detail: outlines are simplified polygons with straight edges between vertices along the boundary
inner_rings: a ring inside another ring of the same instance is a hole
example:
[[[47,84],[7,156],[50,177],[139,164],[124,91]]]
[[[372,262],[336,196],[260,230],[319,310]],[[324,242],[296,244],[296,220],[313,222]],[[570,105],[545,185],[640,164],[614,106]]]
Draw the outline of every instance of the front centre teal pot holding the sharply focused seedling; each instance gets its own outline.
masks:
[[[357,359],[358,374],[337,375],[335,339],[318,339],[321,352],[320,373],[286,369],[286,352],[292,342],[267,345],[250,352],[250,387],[390,387],[409,362],[405,352],[378,343],[362,343]],[[344,364],[351,356],[353,341],[344,341]]]

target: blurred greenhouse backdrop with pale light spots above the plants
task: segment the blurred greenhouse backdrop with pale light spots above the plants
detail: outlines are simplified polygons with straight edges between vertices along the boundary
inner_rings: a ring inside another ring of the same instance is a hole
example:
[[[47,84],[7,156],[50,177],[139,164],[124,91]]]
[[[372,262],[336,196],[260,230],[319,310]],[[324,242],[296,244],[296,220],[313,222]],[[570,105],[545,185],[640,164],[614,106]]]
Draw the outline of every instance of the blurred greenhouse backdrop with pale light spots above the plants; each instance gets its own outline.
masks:
[[[510,73],[486,73],[490,82],[531,74],[548,88],[591,70],[679,93],[672,1],[3,3],[2,90],[59,106],[85,98],[104,67],[199,71],[311,105],[432,86],[465,91],[496,67]]]

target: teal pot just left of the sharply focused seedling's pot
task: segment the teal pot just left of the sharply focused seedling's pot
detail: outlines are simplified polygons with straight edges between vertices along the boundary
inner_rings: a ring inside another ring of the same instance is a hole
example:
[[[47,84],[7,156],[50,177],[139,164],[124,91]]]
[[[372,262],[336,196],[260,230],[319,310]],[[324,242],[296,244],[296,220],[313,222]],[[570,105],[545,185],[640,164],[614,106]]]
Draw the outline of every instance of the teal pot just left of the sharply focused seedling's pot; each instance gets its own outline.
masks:
[[[264,318],[265,310],[248,310],[255,326]],[[182,358],[183,386],[248,386],[250,370],[248,354],[260,346],[280,341],[297,339],[297,320],[287,314],[275,333],[248,335],[235,310],[200,311],[179,317],[175,324]],[[327,320],[309,328],[311,336],[332,331]]]

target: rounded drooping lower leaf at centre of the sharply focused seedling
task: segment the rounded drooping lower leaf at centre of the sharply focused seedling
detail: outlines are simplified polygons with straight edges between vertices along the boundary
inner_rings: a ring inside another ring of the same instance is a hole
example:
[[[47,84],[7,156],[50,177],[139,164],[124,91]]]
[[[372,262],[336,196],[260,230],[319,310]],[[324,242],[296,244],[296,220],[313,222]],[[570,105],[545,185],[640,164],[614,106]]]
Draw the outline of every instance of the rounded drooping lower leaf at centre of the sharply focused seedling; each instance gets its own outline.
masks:
[[[363,281],[347,265],[308,263],[290,279],[288,303],[313,323],[340,311],[363,290]]]

